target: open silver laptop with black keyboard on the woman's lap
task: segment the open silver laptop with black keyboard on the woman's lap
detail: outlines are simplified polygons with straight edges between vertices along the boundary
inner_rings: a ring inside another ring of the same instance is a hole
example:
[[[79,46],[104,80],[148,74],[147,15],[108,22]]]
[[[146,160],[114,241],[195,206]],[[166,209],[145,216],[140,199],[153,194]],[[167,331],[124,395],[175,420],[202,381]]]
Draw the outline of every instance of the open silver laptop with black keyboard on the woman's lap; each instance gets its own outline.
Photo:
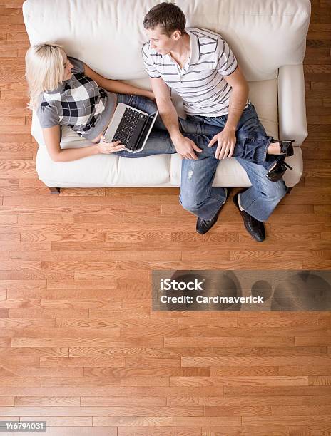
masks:
[[[105,140],[106,142],[121,141],[124,150],[138,153],[145,147],[157,116],[158,110],[148,115],[142,110],[118,103],[104,135]]]

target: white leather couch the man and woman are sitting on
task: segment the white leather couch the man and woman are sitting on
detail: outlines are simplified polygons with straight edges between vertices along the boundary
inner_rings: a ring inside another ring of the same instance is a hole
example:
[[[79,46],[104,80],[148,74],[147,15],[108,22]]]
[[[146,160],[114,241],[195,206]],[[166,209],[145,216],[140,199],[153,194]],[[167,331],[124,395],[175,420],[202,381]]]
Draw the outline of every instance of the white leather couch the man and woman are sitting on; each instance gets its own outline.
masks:
[[[141,60],[147,40],[143,17],[156,0],[26,0],[24,22],[31,44],[53,41],[108,78],[150,88]],[[300,145],[307,137],[302,61],[310,21],[309,0],[176,0],[188,26],[220,33],[237,56],[250,85],[250,99],[268,135],[295,138],[287,158],[288,187],[302,175]],[[177,105],[180,112],[180,105]],[[74,162],[53,162],[36,115],[32,135],[39,143],[36,168],[49,187],[179,186],[180,157],[158,155],[130,160],[96,155]],[[84,147],[63,128],[61,147]],[[250,181],[234,158],[218,165],[215,186],[248,187]]]

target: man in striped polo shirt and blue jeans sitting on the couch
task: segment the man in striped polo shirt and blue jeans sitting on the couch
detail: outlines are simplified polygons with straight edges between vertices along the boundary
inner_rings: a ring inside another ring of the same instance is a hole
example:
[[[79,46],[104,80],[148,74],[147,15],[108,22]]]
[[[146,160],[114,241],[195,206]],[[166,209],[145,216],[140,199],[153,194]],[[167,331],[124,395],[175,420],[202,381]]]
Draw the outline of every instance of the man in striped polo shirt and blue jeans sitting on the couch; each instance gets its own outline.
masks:
[[[149,42],[142,54],[159,113],[183,157],[180,203],[198,217],[197,232],[203,234],[215,224],[227,199],[225,188],[212,187],[219,161],[233,155],[236,141],[244,137],[261,140],[267,135],[248,99],[248,84],[228,44],[218,33],[185,28],[185,22],[183,11],[175,4],[154,6],[143,21]],[[188,120],[210,126],[208,150],[201,150],[180,132],[169,88],[183,99]],[[213,153],[208,152],[210,147]],[[252,187],[236,194],[234,202],[245,228],[262,242],[263,222],[285,195],[285,183],[268,180],[268,170],[261,165],[241,158],[238,162]]]

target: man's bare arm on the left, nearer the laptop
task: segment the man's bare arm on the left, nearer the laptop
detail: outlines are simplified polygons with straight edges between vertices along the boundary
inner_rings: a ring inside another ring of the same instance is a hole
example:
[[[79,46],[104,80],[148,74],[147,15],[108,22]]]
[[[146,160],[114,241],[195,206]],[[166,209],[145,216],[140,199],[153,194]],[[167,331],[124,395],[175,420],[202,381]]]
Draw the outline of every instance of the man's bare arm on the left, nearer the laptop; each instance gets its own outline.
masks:
[[[161,77],[150,78],[150,81],[158,105],[158,112],[169,132],[173,145],[175,145],[175,149],[185,159],[197,160],[198,157],[196,157],[194,150],[197,152],[202,150],[192,140],[180,133],[178,113],[170,99],[168,85],[164,83]]]

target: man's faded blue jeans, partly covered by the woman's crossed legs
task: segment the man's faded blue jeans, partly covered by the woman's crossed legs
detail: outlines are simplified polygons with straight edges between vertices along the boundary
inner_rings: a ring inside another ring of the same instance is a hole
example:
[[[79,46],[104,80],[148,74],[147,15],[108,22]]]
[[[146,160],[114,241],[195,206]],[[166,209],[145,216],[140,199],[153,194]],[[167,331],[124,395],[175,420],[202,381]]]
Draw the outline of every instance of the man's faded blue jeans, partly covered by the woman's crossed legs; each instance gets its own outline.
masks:
[[[227,119],[228,115],[221,117],[188,116],[188,122],[204,123],[210,126],[210,132],[215,127],[217,127],[218,132],[223,130]],[[248,108],[243,111],[238,123],[236,137],[235,149],[238,142],[240,143],[240,140],[247,137],[262,141],[268,138],[253,105],[248,105]],[[201,147],[204,144],[200,142],[198,145]],[[182,162],[180,204],[200,218],[211,219],[225,202],[226,196],[223,187],[212,186],[216,169],[221,161],[216,160],[205,146],[201,148],[203,148],[203,152],[198,153],[198,160],[183,160]],[[236,158],[247,172],[252,184],[252,187],[240,194],[240,205],[255,219],[266,221],[286,194],[285,183],[282,180],[270,182],[265,177],[268,172],[267,167],[257,165],[242,157]],[[279,156],[274,157],[275,161],[279,158]]]

